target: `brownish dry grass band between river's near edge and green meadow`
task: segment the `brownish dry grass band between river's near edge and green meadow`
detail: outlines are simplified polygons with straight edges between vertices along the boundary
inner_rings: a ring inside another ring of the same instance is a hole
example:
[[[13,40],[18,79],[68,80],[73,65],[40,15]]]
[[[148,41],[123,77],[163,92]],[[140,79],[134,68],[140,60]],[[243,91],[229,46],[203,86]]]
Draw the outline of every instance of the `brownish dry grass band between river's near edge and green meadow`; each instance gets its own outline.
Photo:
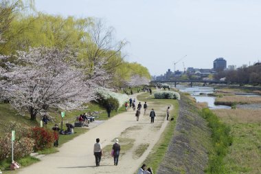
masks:
[[[216,109],[213,112],[228,124],[261,122],[261,112],[251,109]]]

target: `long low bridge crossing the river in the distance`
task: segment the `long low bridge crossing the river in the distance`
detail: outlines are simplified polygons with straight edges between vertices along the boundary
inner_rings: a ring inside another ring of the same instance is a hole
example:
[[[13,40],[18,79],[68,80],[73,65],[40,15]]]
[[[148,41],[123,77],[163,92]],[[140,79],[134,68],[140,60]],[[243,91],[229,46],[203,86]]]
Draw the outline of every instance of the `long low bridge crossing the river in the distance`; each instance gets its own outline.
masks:
[[[176,87],[177,83],[190,83],[190,86],[193,86],[193,83],[203,83],[206,85],[207,83],[214,84],[227,84],[227,81],[221,80],[152,80],[150,83],[174,83],[174,87]]]

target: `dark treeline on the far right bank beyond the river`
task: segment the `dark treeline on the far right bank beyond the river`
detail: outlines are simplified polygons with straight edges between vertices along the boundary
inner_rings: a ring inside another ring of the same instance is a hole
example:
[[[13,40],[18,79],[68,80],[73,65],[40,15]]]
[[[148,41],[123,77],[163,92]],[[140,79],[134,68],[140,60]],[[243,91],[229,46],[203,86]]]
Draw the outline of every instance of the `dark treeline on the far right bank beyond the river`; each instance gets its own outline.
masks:
[[[261,64],[242,66],[236,70],[225,70],[214,76],[216,80],[224,77],[229,83],[259,85],[261,84]]]

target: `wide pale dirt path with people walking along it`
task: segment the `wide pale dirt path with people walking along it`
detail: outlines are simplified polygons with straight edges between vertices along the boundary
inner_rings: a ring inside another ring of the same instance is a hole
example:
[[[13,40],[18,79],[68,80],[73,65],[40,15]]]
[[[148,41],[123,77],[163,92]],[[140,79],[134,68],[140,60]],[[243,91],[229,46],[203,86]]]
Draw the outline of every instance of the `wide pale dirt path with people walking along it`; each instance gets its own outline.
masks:
[[[137,94],[136,94],[137,95]],[[136,98],[136,95],[130,96]],[[138,102],[137,102],[138,103]],[[141,102],[144,103],[144,102]],[[149,112],[154,107],[156,119],[154,124],[150,124]],[[171,108],[172,109],[172,108]],[[168,121],[166,121],[166,106],[155,105],[148,102],[147,115],[143,115],[144,110],[141,109],[139,121],[136,121],[135,111],[129,109],[124,113],[103,122],[102,124],[90,129],[87,133],[79,135],[72,141],[63,144],[58,153],[47,155],[41,158],[41,162],[21,168],[19,174],[71,174],[71,173],[130,173],[133,174],[144,162],[152,147],[159,140],[159,137],[165,129]],[[104,155],[100,166],[95,166],[95,157],[93,155],[93,144],[95,139],[100,138],[102,147],[110,146],[110,150],[105,153],[109,154],[113,140],[119,138],[119,143],[128,139],[130,148],[126,153],[120,154],[119,164],[113,165],[113,157]],[[137,149],[141,150],[141,156],[137,156]],[[136,155],[135,155],[136,154]]]

